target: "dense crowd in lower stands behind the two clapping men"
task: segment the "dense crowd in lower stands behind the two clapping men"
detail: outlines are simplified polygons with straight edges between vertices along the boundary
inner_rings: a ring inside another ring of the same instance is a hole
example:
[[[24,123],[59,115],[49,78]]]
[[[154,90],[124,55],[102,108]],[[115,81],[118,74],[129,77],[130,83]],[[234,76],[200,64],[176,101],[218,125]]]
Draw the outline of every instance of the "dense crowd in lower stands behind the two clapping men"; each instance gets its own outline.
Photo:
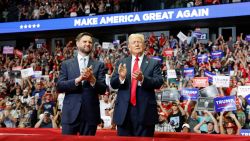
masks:
[[[146,38],[144,54],[148,57],[158,57],[162,61],[162,75],[165,78],[162,87],[165,89],[182,90],[194,88],[192,78],[184,76],[184,68],[195,69],[195,77],[204,76],[205,71],[218,75],[230,76],[230,87],[218,88],[218,97],[236,96],[237,109],[231,112],[198,111],[194,100],[161,101],[157,100],[159,122],[155,131],[159,132],[195,132],[207,134],[237,134],[240,129],[250,128],[250,105],[247,100],[237,95],[238,86],[250,83],[250,43],[244,40],[244,34],[237,36],[236,41],[224,39],[219,35],[215,41],[207,44],[199,39],[188,36],[190,40],[182,42],[175,36],[157,37],[153,32]],[[198,55],[211,55],[212,51],[222,51],[224,57],[207,62],[198,62]],[[166,55],[166,51],[172,51]],[[55,52],[50,52],[44,44],[36,48],[31,44],[23,50],[23,56],[0,54],[0,127],[1,128],[60,128],[63,99],[65,94],[57,91],[61,63],[77,55],[77,49],[72,41],[66,45],[56,44]],[[116,129],[112,117],[117,90],[110,85],[110,78],[115,69],[115,63],[130,55],[127,42],[116,44],[109,49],[102,48],[100,43],[94,43],[91,58],[104,62],[107,89],[100,95],[101,124],[98,129]],[[22,78],[17,68],[33,68],[41,72],[39,76]],[[167,78],[166,71],[174,69],[177,78]],[[212,83],[209,83],[212,85]],[[199,88],[202,89],[202,88]]]

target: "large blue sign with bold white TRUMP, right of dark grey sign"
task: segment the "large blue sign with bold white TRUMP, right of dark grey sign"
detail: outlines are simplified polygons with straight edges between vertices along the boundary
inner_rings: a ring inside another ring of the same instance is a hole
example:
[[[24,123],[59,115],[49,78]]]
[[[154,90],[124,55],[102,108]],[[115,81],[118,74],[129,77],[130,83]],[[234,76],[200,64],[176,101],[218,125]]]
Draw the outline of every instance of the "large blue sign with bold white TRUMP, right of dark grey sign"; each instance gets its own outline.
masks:
[[[235,96],[225,96],[214,98],[216,112],[236,110]]]

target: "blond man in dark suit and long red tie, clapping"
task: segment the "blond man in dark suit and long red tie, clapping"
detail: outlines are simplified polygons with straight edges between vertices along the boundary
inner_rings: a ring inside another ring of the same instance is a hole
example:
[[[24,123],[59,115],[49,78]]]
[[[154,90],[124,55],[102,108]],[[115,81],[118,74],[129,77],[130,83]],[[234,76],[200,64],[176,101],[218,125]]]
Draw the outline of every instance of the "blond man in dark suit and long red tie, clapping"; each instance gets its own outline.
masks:
[[[163,84],[160,62],[144,55],[144,36],[131,34],[128,47],[132,54],[117,62],[111,87],[118,89],[114,122],[119,136],[154,136],[158,122],[154,89]]]

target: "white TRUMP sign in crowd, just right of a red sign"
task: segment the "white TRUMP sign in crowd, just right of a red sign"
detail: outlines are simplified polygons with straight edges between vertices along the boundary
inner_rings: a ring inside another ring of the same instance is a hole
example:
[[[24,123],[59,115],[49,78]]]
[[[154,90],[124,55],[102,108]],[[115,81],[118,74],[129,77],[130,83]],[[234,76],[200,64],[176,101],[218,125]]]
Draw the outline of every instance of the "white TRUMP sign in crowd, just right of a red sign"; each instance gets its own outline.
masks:
[[[213,76],[213,85],[216,87],[229,87],[230,76]]]

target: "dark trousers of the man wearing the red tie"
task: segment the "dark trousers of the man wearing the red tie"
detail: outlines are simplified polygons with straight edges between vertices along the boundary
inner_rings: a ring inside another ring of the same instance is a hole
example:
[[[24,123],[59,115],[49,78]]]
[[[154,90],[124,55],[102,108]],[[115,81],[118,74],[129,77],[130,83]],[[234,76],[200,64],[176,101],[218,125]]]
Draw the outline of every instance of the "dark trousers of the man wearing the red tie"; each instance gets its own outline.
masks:
[[[119,136],[154,136],[155,125],[140,124],[136,116],[137,114],[136,106],[130,104],[123,125],[117,126]]]

